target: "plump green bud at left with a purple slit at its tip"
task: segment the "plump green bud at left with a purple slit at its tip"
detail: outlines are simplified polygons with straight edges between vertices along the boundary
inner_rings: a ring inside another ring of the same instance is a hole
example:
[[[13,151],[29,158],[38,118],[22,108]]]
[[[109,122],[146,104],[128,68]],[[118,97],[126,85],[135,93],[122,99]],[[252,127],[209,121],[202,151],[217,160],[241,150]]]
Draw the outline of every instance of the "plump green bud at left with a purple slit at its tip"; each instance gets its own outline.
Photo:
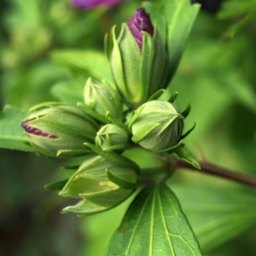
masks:
[[[29,141],[39,154],[61,158],[77,156],[88,150],[84,143],[94,142],[98,125],[83,111],[61,103],[44,103],[32,108],[32,113],[22,122]]]

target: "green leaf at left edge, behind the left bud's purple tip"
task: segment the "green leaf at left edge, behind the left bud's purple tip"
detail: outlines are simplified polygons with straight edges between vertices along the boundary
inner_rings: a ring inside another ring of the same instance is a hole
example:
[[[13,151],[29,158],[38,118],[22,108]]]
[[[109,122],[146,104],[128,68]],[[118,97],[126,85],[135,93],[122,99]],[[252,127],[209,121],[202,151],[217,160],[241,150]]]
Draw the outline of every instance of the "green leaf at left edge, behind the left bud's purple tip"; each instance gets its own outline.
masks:
[[[0,148],[16,149],[26,152],[35,151],[28,143],[21,122],[27,112],[7,105],[0,113]]]

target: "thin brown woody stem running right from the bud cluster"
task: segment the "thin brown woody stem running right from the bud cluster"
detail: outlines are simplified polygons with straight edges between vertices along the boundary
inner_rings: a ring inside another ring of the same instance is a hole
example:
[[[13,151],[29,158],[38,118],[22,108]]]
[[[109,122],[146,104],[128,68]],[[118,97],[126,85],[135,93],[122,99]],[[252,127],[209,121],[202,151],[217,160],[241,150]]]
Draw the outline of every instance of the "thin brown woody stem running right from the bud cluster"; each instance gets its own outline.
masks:
[[[249,186],[256,188],[256,177],[249,176],[239,172],[230,171],[223,167],[212,165],[211,163],[208,163],[207,161],[204,160],[198,162],[201,164],[201,170],[196,169],[194,166],[191,166],[188,162],[184,160],[178,159],[176,160],[174,166],[176,168],[185,168],[191,171],[204,172],[214,176],[224,177],[226,179],[236,181],[237,183],[247,184]]]

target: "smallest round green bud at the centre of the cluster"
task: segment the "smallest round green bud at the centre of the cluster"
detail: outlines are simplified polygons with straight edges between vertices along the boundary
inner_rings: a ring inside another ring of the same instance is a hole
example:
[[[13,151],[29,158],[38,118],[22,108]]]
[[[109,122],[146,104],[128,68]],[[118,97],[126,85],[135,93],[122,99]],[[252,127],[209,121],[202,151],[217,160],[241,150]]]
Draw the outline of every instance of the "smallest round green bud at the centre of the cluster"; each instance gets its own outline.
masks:
[[[118,125],[102,126],[96,135],[96,145],[104,150],[122,150],[128,147],[129,135]]]

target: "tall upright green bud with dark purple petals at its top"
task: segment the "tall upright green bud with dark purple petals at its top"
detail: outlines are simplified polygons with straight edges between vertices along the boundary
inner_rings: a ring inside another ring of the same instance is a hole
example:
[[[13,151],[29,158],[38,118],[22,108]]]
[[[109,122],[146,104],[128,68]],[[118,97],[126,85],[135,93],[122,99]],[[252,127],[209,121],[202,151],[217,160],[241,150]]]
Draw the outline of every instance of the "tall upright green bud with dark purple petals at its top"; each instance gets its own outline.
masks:
[[[118,37],[113,27],[108,53],[117,89],[131,108],[137,108],[157,90],[166,88],[169,82],[166,43],[144,9],[138,9],[122,25]]]

